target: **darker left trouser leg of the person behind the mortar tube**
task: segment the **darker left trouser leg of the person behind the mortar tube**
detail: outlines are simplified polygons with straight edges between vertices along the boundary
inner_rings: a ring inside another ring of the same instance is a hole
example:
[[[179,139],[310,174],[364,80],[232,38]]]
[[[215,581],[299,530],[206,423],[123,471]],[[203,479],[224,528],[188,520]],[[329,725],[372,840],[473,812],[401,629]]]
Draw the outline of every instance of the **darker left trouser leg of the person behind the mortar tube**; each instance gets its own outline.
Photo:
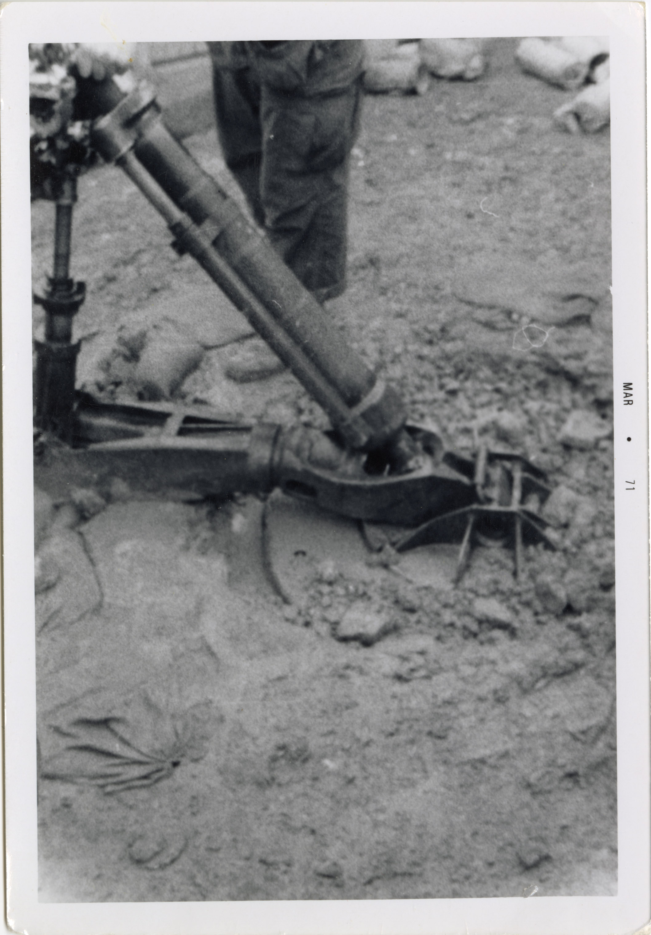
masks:
[[[235,70],[214,65],[212,87],[217,136],[225,163],[246,195],[255,221],[262,225],[260,85],[251,68]]]

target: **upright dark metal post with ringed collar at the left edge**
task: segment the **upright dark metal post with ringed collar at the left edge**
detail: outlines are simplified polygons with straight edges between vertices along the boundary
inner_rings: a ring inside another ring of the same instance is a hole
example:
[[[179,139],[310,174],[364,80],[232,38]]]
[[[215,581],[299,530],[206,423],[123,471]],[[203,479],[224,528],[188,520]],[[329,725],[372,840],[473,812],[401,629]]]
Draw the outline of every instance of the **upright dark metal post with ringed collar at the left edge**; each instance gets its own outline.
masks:
[[[75,374],[80,341],[72,343],[72,319],[86,294],[85,282],[69,278],[72,209],[77,201],[77,167],[57,179],[54,222],[54,270],[44,295],[34,301],[45,309],[45,339],[35,341],[34,388],[36,426],[63,441],[72,441]]]

